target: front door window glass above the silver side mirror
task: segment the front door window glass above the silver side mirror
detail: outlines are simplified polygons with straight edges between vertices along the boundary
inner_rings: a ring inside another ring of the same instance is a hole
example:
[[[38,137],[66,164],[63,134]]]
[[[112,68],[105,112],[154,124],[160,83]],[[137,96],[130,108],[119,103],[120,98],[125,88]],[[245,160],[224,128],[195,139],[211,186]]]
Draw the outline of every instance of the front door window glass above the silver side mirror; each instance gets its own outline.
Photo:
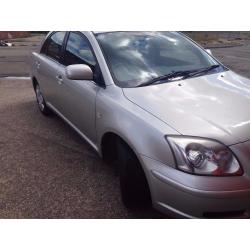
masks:
[[[95,57],[91,51],[87,39],[77,33],[70,32],[66,51],[64,55],[64,64],[87,64],[93,69],[96,65]]]

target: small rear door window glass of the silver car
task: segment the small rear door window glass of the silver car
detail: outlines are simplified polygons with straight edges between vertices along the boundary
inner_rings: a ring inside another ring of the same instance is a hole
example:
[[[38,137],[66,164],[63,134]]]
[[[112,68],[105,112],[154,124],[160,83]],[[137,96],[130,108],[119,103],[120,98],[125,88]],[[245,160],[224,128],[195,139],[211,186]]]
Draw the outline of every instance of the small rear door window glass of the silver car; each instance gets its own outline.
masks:
[[[44,53],[59,61],[65,34],[66,32],[54,33],[46,42],[46,51]]]

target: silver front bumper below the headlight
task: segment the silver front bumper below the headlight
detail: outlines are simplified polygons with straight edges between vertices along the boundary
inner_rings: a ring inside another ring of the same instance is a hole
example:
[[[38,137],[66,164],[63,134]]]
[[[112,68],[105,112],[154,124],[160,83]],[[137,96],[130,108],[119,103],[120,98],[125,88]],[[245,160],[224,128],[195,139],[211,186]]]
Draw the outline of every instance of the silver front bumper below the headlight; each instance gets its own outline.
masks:
[[[250,178],[197,176],[142,156],[153,206],[174,217],[250,218]]]

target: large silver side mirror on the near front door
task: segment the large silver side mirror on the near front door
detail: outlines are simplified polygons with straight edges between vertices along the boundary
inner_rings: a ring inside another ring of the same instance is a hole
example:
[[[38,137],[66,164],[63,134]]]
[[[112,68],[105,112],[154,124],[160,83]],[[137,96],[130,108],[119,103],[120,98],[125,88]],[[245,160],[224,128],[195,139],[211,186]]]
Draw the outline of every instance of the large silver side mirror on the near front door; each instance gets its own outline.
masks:
[[[75,64],[67,66],[66,76],[70,80],[93,80],[92,69],[86,64]]]

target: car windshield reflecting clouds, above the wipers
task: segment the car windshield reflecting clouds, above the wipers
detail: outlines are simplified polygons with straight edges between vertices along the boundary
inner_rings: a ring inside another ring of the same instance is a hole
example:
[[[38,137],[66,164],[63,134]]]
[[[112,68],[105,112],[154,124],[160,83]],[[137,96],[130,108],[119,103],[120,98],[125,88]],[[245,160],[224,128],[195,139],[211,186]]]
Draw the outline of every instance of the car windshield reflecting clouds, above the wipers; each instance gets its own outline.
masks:
[[[122,88],[136,87],[172,72],[218,65],[204,50],[177,32],[107,32],[95,35],[115,83]]]

